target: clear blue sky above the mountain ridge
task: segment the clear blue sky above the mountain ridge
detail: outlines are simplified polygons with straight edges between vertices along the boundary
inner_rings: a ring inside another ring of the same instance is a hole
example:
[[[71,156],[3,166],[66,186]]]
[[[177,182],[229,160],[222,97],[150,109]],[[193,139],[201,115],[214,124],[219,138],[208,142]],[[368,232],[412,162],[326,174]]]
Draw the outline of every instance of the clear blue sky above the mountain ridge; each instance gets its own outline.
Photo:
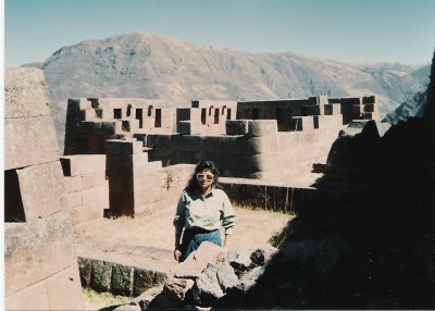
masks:
[[[5,65],[148,32],[247,52],[427,63],[435,0],[4,0]]]

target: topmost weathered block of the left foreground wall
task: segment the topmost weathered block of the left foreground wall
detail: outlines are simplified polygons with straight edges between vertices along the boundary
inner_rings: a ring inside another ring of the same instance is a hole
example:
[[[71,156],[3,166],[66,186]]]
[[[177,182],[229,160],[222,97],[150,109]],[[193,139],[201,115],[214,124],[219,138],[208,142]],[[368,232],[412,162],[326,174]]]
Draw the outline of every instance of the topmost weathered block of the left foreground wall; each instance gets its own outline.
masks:
[[[4,71],[4,117],[50,116],[44,72],[30,67]]]

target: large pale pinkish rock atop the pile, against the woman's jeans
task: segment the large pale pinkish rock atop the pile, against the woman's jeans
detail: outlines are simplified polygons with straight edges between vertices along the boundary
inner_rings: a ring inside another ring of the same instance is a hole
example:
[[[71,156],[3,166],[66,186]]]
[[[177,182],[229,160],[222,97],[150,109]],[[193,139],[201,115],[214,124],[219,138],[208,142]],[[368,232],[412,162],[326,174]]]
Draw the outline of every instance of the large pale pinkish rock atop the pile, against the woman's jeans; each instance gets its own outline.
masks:
[[[216,262],[216,257],[221,251],[222,248],[215,244],[203,241],[184,262],[174,268],[174,276],[182,278],[198,277],[209,263]]]

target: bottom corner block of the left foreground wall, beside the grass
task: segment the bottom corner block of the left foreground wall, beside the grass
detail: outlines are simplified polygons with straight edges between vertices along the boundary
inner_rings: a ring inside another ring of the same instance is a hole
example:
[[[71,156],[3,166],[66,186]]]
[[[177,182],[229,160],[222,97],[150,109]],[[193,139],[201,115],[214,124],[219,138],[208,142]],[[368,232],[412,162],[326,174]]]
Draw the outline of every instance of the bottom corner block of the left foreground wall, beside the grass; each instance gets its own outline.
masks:
[[[76,262],[50,276],[46,283],[48,310],[84,310],[85,302]]]

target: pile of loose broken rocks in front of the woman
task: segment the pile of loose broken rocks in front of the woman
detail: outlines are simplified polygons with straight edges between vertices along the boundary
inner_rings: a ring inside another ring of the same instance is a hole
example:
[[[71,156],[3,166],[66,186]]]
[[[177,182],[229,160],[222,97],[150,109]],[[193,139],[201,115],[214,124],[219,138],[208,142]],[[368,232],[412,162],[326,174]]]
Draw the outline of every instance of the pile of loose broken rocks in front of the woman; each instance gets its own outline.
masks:
[[[174,266],[163,288],[147,290],[132,304],[140,307],[140,310],[239,304],[276,251],[276,248],[268,246],[248,256],[202,242],[186,261]]]

